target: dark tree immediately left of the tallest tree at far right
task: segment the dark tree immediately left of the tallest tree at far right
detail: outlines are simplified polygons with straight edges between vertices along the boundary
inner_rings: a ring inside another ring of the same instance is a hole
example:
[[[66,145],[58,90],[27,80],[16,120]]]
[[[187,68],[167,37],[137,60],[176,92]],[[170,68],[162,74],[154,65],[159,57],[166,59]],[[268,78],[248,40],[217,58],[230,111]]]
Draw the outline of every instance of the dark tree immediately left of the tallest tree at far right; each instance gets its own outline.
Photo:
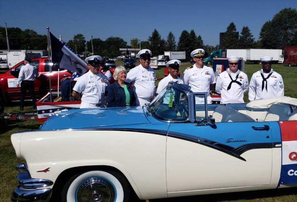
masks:
[[[277,36],[270,20],[262,26],[259,39],[261,48],[275,49],[279,46],[280,38]]]

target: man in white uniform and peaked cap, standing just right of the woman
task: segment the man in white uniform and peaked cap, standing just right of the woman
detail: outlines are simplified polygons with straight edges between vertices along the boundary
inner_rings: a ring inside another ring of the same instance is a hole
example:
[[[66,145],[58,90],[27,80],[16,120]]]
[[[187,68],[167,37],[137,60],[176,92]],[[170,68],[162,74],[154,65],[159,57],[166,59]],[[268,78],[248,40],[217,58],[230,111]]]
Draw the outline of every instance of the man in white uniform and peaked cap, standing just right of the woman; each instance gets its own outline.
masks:
[[[133,83],[136,94],[136,105],[144,105],[150,103],[156,93],[156,73],[149,66],[152,56],[152,51],[143,49],[137,54],[140,65],[132,68],[127,73],[126,82]]]

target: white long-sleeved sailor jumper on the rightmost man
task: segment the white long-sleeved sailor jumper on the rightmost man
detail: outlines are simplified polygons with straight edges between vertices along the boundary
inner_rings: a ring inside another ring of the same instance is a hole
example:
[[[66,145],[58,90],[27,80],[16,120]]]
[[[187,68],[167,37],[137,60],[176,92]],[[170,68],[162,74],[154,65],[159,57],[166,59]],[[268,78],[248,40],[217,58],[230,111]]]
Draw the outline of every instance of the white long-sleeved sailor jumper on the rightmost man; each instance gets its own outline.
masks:
[[[263,78],[261,76],[263,74],[264,78],[267,78],[270,73],[270,77],[267,81],[264,81],[264,88],[262,90],[262,82]],[[266,90],[267,83],[267,90]],[[249,82],[249,100],[258,100],[258,99],[266,99],[266,98],[275,98],[284,96],[284,82],[283,78],[279,73],[270,70],[269,73],[264,73],[263,70],[259,70],[254,73],[250,82]]]

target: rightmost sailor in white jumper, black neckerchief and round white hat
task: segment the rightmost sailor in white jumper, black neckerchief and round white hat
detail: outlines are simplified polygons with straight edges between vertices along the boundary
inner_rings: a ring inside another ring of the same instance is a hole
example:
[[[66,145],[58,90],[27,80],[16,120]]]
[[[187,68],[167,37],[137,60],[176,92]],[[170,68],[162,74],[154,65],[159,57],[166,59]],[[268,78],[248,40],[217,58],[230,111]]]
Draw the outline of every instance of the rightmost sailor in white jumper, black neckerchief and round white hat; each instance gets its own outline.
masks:
[[[260,58],[262,69],[253,74],[249,83],[249,100],[284,96],[284,82],[271,68],[272,57]]]

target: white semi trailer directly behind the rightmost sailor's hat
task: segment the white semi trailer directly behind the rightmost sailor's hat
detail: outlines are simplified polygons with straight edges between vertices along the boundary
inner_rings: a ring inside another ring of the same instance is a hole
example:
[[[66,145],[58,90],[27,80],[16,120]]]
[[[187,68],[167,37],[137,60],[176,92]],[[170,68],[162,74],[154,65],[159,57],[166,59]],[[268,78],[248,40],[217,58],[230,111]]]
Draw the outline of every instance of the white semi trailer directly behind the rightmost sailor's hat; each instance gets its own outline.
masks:
[[[269,56],[273,57],[272,62],[283,63],[284,57],[281,49],[247,49],[246,61],[260,63],[260,58]]]

